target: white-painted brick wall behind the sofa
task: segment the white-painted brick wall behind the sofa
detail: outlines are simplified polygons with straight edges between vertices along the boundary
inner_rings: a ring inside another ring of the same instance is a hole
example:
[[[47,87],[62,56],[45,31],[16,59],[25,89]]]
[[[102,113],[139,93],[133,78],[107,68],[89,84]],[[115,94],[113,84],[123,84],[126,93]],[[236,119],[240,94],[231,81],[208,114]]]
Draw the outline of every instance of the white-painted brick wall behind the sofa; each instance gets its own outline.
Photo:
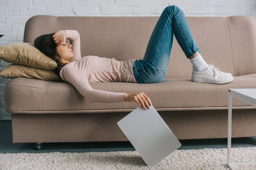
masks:
[[[56,16],[160,16],[169,5],[186,16],[247,15],[256,19],[256,0],[0,0],[0,46],[23,42],[26,21],[38,14]],[[7,63],[0,62],[0,71]],[[0,77],[0,120],[6,112],[4,87],[11,79]]]

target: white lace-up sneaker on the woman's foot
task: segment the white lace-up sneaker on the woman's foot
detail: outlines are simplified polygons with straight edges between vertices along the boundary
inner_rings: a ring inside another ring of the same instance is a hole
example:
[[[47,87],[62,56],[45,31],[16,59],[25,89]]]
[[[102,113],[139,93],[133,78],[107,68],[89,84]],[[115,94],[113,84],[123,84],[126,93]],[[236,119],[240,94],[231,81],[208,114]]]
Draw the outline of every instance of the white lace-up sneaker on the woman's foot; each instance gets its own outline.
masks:
[[[209,68],[205,71],[192,70],[192,82],[204,82],[212,84],[224,84],[233,81],[233,76],[230,73],[219,71],[213,65],[208,64]],[[192,66],[193,67],[193,66]]]

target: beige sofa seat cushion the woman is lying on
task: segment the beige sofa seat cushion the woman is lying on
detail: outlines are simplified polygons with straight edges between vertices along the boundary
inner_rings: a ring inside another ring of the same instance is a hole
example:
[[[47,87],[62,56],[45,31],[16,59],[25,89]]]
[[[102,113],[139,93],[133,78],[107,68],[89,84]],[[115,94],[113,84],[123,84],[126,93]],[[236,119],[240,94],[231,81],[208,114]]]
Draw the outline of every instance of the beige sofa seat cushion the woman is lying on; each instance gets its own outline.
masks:
[[[256,88],[256,74],[234,77],[222,85],[192,82],[191,78],[166,78],[153,84],[90,82],[93,89],[144,92],[154,108],[227,107],[229,88]],[[90,113],[108,109],[135,109],[135,102],[89,102],[70,83],[17,77],[6,83],[4,98],[9,113]],[[250,106],[233,98],[233,106]],[[173,109],[172,109],[173,110]]]

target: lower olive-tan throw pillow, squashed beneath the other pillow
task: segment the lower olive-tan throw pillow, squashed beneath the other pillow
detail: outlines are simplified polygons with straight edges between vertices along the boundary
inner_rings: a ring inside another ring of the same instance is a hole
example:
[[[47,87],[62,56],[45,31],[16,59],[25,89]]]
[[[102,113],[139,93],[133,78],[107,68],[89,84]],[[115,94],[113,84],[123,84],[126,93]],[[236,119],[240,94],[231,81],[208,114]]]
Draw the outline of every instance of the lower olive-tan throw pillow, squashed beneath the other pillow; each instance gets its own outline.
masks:
[[[38,68],[27,67],[24,65],[10,64],[3,71],[0,76],[4,78],[26,77],[31,79],[41,79],[47,81],[64,82],[58,74],[51,70],[41,70]]]

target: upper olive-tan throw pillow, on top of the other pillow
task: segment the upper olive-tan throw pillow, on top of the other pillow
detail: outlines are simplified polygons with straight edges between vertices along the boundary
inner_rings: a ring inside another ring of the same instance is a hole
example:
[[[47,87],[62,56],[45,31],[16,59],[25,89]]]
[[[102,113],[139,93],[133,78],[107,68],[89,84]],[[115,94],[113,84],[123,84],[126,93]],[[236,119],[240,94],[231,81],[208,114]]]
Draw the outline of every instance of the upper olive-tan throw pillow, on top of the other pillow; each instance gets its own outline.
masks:
[[[42,70],[54,70],[57,63],[35,48],[33,43],[16,42],[0,47],[0,59]]]

